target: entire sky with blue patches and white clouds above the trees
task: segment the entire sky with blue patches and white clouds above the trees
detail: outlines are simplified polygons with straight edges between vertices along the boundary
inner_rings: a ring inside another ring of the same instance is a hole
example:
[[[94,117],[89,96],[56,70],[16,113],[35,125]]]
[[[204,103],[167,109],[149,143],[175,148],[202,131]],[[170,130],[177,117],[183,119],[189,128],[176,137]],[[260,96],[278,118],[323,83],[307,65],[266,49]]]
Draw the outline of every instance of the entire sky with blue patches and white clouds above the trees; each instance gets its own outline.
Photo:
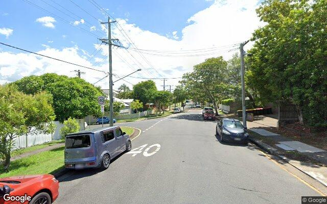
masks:
[[[239,52],[262,22],[258,0],[13,0],[0,7],[0,42],[32,52],[108,71],[108,15],[111,23],[113,88],[154,78],[157,89],[178,85],[183,73],[210,57],[225,60]],[[114,19],[113,19],[114,18]],[[104,26],[105,25],[105,26]],[[102,43],[102,44],[101,44]],[[245,46],[251,48],[253,43]],[[54,72],[109,88],[106,73],[36,56],[0,44],[0,84]],[[105,78],[106,77],[106,78]],[[176,79],[171,79],[176,78]],[[103,80],[101,80],[103,79]],[[100,80],[100,81],[99,81]]]

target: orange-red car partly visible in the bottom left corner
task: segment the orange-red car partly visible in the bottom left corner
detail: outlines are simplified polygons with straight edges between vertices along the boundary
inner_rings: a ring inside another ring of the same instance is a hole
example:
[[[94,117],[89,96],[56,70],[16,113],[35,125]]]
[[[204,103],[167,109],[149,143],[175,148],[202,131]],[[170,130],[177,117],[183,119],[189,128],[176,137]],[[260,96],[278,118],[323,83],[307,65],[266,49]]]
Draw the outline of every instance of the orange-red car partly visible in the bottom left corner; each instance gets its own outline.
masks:
[[[0,204],[50,204],[57,199],[59,182],[53,175],[23,175],[0,179]]]

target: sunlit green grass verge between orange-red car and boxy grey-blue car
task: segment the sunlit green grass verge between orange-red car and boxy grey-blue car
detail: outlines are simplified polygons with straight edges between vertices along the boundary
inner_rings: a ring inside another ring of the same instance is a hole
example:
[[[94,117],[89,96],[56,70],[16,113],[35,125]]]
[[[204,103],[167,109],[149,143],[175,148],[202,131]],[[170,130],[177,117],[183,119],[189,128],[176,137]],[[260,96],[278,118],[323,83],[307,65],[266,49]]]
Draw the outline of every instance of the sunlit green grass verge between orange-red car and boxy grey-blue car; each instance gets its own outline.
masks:
[[[64,147],[59,147],[39,154],[15,160],[10,164],[10,171],[5,172],[0,166],[0,177],[27,174],[51,173],[64,165]]]

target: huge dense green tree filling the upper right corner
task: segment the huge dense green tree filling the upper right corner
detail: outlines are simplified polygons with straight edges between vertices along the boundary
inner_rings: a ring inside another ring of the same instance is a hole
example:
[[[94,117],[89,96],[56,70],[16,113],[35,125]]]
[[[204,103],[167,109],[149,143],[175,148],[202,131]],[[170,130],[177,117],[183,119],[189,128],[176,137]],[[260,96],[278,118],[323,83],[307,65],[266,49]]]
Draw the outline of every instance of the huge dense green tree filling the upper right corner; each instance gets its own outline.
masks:
[[[296,105],[299,121],[327,126],[327,1],[265,1],[248,57],[248,80],[264,102]]]

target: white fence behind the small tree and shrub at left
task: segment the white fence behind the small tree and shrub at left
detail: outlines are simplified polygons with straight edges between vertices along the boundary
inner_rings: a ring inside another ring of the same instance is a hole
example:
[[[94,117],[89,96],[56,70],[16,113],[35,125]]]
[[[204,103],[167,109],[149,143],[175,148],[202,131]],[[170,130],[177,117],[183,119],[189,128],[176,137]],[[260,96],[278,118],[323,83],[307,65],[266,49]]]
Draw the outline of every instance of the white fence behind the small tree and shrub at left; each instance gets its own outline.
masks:
[[[63,124],[59,121],[55,121],[56,129],[52,134],[37,134],[37,135],[22,135],[14,139],[13,149],[26,148],[37,144],[43,144],[45,142],[51,142],[53,140],[60,140],[59,134]],[[79,119],[80,130],[85,130],[83,119]]]

